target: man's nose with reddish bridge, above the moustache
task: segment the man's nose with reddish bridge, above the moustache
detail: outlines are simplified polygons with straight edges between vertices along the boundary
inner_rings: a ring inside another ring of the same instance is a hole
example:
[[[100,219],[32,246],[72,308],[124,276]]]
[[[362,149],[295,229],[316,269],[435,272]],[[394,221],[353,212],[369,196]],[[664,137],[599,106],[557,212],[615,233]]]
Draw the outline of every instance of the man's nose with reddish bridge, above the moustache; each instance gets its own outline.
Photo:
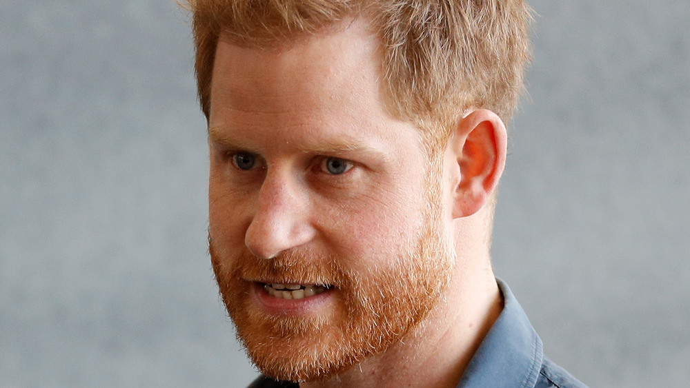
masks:
[[[311,241],[308,194],[287,174],[268,172],[259,190],[258,205],[244,237],[246,247],[258,257],[274,258],[280,252]]]

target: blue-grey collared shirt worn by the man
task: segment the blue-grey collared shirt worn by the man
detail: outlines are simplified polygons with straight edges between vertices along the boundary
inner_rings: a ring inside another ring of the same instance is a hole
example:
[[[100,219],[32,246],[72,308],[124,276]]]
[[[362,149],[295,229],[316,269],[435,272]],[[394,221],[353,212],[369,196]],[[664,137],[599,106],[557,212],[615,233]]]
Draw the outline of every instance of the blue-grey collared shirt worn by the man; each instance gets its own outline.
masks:
[[[457,388],[586,388],[565,369],[544,356],[542,340],[511,289],[497,279],[503,311],[470,360]],[[297,388],[260,376],[248,388]]]

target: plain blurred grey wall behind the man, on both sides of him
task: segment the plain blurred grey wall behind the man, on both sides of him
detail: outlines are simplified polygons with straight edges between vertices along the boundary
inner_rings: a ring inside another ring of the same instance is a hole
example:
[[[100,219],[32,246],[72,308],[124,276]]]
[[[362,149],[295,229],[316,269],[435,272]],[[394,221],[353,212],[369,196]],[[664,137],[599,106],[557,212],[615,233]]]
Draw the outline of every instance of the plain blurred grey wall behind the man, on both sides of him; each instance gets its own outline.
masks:
[[[592,387],[690,380],[690,1],[532,1],[498,276]],[[243,387],[172,0],[0,2],[0,387]]]

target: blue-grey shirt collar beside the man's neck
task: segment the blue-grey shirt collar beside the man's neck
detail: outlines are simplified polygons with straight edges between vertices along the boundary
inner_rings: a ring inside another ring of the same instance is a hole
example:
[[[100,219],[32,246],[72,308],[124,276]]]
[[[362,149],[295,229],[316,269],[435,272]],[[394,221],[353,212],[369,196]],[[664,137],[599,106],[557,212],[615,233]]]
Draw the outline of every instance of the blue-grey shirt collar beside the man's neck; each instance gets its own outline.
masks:
[[[539,376],[544,358],[542,340],[508,285],[496,281],[503,294],[503,311],[467,365],[457,388],[532,388]]]

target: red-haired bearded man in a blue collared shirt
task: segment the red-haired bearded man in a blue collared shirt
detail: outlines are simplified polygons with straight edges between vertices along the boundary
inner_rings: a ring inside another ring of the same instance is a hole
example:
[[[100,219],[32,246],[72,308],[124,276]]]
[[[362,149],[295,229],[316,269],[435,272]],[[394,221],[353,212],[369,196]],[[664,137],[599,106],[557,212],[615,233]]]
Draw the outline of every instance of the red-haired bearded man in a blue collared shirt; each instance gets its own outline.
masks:
[[[197,0],[209,247],[252,387],[582,387],[491,269],[517,0]]]

